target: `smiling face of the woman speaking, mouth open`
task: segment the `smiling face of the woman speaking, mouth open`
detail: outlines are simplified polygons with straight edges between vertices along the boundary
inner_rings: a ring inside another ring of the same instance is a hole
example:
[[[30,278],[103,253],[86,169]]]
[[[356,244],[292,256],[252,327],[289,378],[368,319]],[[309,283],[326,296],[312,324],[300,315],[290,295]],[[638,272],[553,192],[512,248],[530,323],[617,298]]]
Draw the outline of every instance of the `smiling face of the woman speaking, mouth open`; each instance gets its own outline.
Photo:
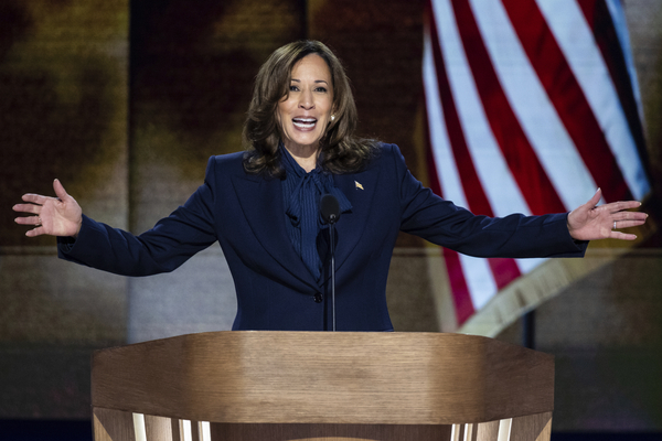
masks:
[[[276,110],[285,147],[317,150],[331,120],[333,87],[327,62],[310,54],[295,64],[289,94]]]

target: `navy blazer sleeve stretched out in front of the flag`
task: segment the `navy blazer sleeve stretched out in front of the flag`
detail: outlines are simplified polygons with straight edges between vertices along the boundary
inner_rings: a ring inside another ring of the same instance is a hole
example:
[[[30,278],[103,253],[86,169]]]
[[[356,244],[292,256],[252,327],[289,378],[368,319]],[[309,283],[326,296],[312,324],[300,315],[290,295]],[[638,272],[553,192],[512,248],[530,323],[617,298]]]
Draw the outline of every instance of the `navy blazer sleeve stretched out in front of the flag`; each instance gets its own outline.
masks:
[[[505,217],[473,215],[423,186],[397,147],[394,162],[401,189],[401,229],[476,257],[583,257],[587,241],[575,241],[567,213]]]

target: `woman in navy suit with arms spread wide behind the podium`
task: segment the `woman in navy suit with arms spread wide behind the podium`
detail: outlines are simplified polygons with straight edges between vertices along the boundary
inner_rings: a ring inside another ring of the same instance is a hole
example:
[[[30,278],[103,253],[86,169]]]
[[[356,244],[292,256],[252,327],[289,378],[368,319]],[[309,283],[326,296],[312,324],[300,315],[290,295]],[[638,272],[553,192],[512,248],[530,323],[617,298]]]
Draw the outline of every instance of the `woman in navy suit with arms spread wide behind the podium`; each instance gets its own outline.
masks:
[[[321,195],[340,202],[337,320],[341,331],[391,331],[385,287],[399,230],[479,257],[580,257],[587,240],[645,222],[638,202],[596,207],[600,191],[569,214],[474,216],[434,195],[396,146],[353,135],[346,76],[319,42],[277,50],[256,78],[246,153],[210,159],[204,184],[136,237],[83,215],[56,180],[56,198],[26,194],[17,223],[58,237],[60,257],[127,276],[171,271],[218,240],[238,299],[234,330],[327,330],[328,228]]]

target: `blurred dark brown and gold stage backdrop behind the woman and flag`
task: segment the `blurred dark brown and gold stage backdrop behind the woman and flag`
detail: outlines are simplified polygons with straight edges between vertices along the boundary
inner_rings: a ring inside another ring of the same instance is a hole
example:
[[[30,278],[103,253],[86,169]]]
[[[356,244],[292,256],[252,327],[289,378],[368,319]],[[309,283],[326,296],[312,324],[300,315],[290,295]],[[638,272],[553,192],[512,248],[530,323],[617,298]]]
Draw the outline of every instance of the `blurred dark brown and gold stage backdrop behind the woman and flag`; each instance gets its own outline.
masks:
[[[402,235],[388,280],[396,331],[525,335],[554,354],[558,440],[662,437],[662,2],[621,4],[651,189],[634,246],[591,244],[549,262],[563,283],[511,284],[468,320],[437,247]],[[209,157],[242,149],[258,67],[299,39],[342,60],[360,135],[397,143],[433,185],[429,14],[424,0],[0,0],[0,439],[90,439],[95,349],[228,330],[236,310],[217,246],[171,275],[107,275],[28,239],[11,211],[23,193],[52,194],[58,178],[90,217],[148,229],[202,183]]]

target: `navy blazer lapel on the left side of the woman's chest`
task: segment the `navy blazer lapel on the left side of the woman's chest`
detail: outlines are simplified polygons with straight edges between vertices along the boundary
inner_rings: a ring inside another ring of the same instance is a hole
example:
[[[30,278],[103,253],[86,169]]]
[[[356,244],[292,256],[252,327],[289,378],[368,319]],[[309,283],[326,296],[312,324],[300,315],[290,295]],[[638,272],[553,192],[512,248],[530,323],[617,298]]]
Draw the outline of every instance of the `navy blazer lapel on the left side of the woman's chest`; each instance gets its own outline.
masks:
[[[312,273],[289,240],[280,180],[244,174],[232,176],[232,181],[244,216],[261,246],[293,277],[317,288]]]

